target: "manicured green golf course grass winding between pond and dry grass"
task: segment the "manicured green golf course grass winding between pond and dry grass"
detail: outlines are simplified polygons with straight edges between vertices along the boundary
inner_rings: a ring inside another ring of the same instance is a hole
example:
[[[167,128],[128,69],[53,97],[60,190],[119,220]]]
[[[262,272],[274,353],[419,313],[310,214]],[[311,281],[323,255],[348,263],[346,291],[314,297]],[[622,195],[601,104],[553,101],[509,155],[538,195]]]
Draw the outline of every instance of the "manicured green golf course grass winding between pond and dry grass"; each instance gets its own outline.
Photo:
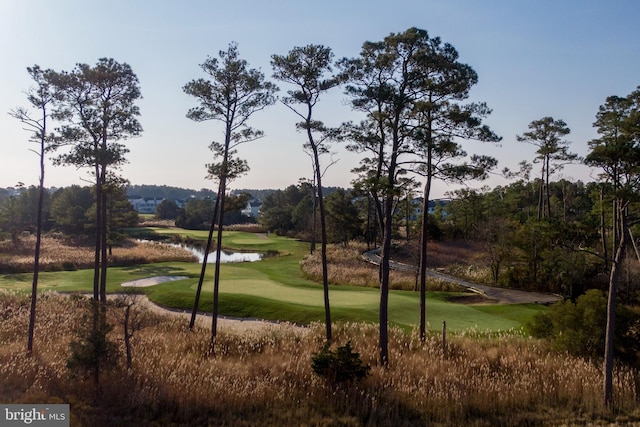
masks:
[[[189,235],[194,239],[206,239],[206,231],[179,229],[155,229],[162,234]],[[308,244],[274,236],[225,232],[226,248],[278,252],[259,262],[223,264],[221,267],[219,314],[231,317],[252,317],[308,324],[324,320],[322,286],[305,279],[300,260],[308,251]],[[187,279],[136,288],[149,298],[166,307],[191,310],[195,298],[201,265],[184,262],[145,264],[131,267],[114,267],[108,273],[108,292],[120,292],[121,283],[153,276],[186,276]],[[207,266],[199,309],[211,312],[213,300],[214,265]],[[31,274],[0,276],[0,288],[28,292]],[[93,270],[41,273],[40,290],[63,292],[91,292]],[[131,290],[131,288],[127,288]],[[330,289],[332,321],[378,321],[380,294],[378,289],[332,286]],[[432,292],[427,295],[427,321],[431,328],[439,330],[443,320],[450,331],[475,328],[480,331],[497,331],[519,328],[536,312],[543,309],[535,305],[464,305],[446,300],[446,294]],[[391,291],[389,296],[389,321],[391,324],[411,328],[419,323],[419,299],[417,292]]]

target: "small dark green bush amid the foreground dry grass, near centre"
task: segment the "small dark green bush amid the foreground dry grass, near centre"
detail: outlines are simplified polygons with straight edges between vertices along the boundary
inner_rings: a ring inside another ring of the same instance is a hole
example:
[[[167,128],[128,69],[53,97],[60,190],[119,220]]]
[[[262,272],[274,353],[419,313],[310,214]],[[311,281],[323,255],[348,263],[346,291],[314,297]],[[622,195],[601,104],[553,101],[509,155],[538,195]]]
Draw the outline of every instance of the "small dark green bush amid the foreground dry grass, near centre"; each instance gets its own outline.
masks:
[[[353,351],[351,341],[336,348],[335,352],[326,343],[319,352],[313,353],[311,360],[313,372],[332,384],[366,378],[371,370],[369,365],[362,363],[360,354]]]

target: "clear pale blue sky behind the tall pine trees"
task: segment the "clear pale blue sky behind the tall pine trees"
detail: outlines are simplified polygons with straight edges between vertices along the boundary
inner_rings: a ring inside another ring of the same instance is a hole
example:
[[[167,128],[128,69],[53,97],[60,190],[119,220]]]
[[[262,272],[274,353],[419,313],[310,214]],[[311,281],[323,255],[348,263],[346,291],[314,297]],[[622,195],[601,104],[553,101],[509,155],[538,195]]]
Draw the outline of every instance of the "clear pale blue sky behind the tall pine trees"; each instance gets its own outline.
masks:
[[[214,121],[186,117],[196,99],[183,86],[207,77],[207,57],[231,42],[251,68],[271,79],[271,55],[321,44],[336,58],[356,57],[365,41],[381,41],[410,27],[452,44],[461,62],[478,74],[469,101],[486,102],[485,119],[500,144],[464,142],[469,154],[486,154],[498,169],[517,169],[535,157],[535,147],[516,140],[530,122],[551,116],[571,129],[570,151],[588,153],[597,138],[595,115],[608,96],[626,96],[640,85],[640,2],[636,0],[0,0],[0,187],[37,185],[38,157],[30,133],[8,113],[27,107],[32,86],[26,68],[70,71],[99,58],[129,64],[143,98],[141,136],[127,140],[130,152],[121,175],[131,184],[191,189],[215,188],[206,177],[208,147],[221,141]],[[275,82],[285,95],[290,89]],[[341,89],[320,101],[316,119],[327,126],[359,120]],[[256,113],[250,126],[264,138],[238,147],[250,172],[235,189],[278,189],[312,176],[311,160],[295,130],[296,116],[281,103]],[[332,145],[325,186],[349,187],[361,155]],[[329,158],[321,160],[327,164]],[[534,174],[539,165],[534,165]],[[556,174],[596,180],[596,170],[571,165]],[[87,170],[47,163],[45,185],[88,185]],[[470,188],[507,185],[494,175]],[[433,197],[457,187],[436,182]]]

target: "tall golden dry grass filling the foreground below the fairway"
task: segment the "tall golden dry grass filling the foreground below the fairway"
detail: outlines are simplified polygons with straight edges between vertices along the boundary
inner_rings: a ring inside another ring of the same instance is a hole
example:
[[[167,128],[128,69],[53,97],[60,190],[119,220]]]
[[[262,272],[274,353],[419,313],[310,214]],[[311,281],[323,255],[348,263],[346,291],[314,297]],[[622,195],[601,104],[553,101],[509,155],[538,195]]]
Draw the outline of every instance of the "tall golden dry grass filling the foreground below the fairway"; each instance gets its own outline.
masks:
[[[331,386],[315,376],[311,357],[322,325],[306,330],[221,328],[207,355],[208,322],[190,332],[181,317],[156,317],[133,338],[133,367],[91,381],[65,367],[74,327],[87,302],[44,294],[34,354],[25,356],[28,301],[0,296],[0,401],[70,403],[72,425],[342,425],[518,426],[640,422],[638,371],[615,374],[616,410],[601,404],[602,375],[588,360],[551,352],[506,332],[450,337],[443,357],[437,335],[390,331],[390,367],[377,363],[375,326],[342,324],[334,341],[350,340],[371,376]],[[119,328],[112,339],[119,340]],[[124,366],[124,364],[121,364]]]

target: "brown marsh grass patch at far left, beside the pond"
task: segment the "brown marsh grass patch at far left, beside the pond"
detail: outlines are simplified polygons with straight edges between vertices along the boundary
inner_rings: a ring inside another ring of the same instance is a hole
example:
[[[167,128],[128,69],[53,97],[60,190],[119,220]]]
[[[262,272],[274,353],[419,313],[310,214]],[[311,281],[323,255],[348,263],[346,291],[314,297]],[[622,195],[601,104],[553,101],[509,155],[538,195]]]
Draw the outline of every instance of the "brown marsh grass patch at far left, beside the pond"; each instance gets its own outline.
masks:
[[[43,236],[40,249],[41,271],[76,270],[91,268],[94,261],[93,242],[78,238]],[[0,241],[0,273],[29,272],[33,270],[35,236],[22,237],[15,244]],[[191,252],[164,244],[126,240],[112,248],[110,265],[153,263],[162,261],[197,261]]]

